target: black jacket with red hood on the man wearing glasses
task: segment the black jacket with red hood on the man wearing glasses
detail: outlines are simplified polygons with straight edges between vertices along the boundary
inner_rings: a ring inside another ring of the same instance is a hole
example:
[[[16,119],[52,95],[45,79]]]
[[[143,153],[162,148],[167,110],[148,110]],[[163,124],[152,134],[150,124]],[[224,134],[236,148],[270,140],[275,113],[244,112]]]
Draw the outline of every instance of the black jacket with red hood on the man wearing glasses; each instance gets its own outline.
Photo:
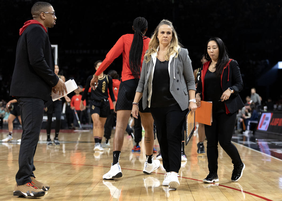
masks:
[[[46,28],[36,20],[20,29],[10,96],[50,99],[58,81],[54,56]]]

